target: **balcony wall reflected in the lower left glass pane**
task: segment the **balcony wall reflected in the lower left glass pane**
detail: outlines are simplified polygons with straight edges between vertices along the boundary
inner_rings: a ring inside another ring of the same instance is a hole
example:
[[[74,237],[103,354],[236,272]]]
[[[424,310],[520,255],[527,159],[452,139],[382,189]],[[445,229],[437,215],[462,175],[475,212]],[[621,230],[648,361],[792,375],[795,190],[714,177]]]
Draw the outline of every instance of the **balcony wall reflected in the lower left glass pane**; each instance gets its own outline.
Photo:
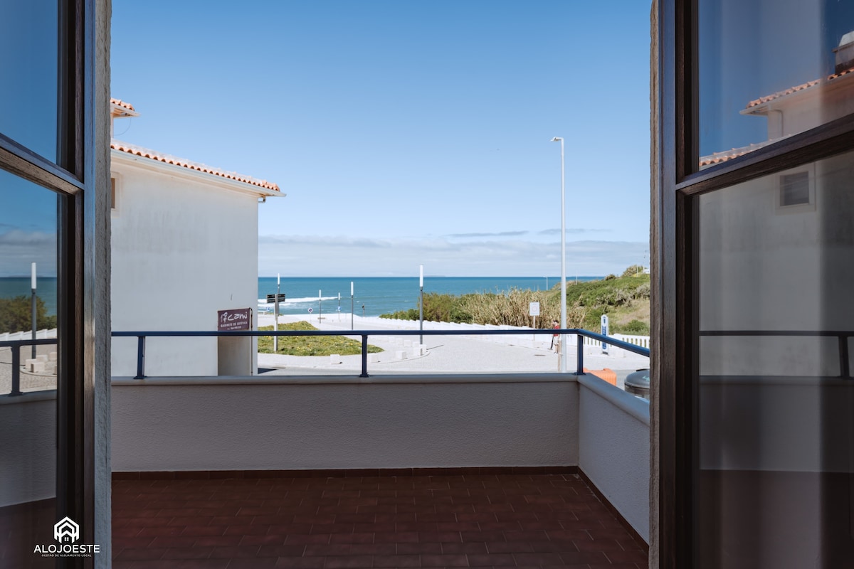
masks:
[[[0,507],[56,496],[56,391],[0,397]]]

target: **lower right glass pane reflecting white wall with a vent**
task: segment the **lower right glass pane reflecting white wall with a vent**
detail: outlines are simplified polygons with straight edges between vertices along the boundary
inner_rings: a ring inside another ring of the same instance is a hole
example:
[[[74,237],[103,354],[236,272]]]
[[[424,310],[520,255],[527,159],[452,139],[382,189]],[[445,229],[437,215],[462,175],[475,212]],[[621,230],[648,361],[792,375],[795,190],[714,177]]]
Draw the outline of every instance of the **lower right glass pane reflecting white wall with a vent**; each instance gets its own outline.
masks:
[[[699,566],[854,566],[852,179],[699,197]]]

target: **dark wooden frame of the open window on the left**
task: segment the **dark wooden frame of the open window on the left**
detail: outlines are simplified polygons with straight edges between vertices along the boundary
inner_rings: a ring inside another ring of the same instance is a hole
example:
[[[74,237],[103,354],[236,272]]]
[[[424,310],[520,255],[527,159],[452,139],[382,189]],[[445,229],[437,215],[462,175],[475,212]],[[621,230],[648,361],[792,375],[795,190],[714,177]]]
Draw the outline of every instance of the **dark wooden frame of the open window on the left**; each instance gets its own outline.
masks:
[[[98,50],[96,15],[105,12],[102,0],[68,0],[60,3],[58,30],[63,89],[59,99],[61,136],[57,141],[57,163],[45,160],[7,136],[0,134],[0,167],[5,171],[56,192],[61,197],[57,212],[58,345],[60,377],[56,389],[56,515],[68,516],[80,526],[82,543],[95,541],[95,398],[93,266],[98,258],[97,201],[106,183],[98,180],[103,171],[98,160],[108,160],[100,146],[96,125],[106,117],[107,101],[97,93],[102,88],[103,50]],[[102,16],[103,17],[103,16]],[[108,21],[108,20],[106,20]],[[107,24],[108,26],[108,24]],[[99,109],[97,105],[105,107]],[[100,129],[98,129],[100,130]],[[65,167],[63,167],[63,165]],[[99,185],[100,183],[100,185]],[[107,247],[108,251],[108,247]],[[107,253],[108,254],[108,253]],[[109,544],[102,551],[109,552]],[[107,553],[109,554],[109,553]],[[107,564],[109,561],[107,561]],[[93,558],[57,560],[57,566],[92,567]]]

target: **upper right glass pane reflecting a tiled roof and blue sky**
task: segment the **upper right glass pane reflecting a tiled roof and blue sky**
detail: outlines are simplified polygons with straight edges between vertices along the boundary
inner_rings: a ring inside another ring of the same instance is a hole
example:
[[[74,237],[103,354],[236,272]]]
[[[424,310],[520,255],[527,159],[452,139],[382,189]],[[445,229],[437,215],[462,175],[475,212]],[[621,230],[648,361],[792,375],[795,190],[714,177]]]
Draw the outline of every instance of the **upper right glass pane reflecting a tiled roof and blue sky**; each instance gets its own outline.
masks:
[[[854,112],[854,3],[698,3],[701,169]]]

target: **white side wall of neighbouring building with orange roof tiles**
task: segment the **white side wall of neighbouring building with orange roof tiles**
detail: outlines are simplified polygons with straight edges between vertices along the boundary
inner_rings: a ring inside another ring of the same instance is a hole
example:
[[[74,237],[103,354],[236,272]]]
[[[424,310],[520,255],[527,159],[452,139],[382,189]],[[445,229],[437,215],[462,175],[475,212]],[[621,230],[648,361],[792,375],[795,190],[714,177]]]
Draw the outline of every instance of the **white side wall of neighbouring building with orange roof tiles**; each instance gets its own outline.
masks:
[[[118,180],[113,330],[213,331],[217,311],[254,312],[257,195],[227,189],[210,175],[172,175],[153,160],[122,154],[114,152],[112,163]],[[149,339],[145,356],[146,374],[217,374],[216,338]],[[136,374],[136,339],[114,338],[112,361],[113,376]],[[254,357],[253,373],[256,368]]]

